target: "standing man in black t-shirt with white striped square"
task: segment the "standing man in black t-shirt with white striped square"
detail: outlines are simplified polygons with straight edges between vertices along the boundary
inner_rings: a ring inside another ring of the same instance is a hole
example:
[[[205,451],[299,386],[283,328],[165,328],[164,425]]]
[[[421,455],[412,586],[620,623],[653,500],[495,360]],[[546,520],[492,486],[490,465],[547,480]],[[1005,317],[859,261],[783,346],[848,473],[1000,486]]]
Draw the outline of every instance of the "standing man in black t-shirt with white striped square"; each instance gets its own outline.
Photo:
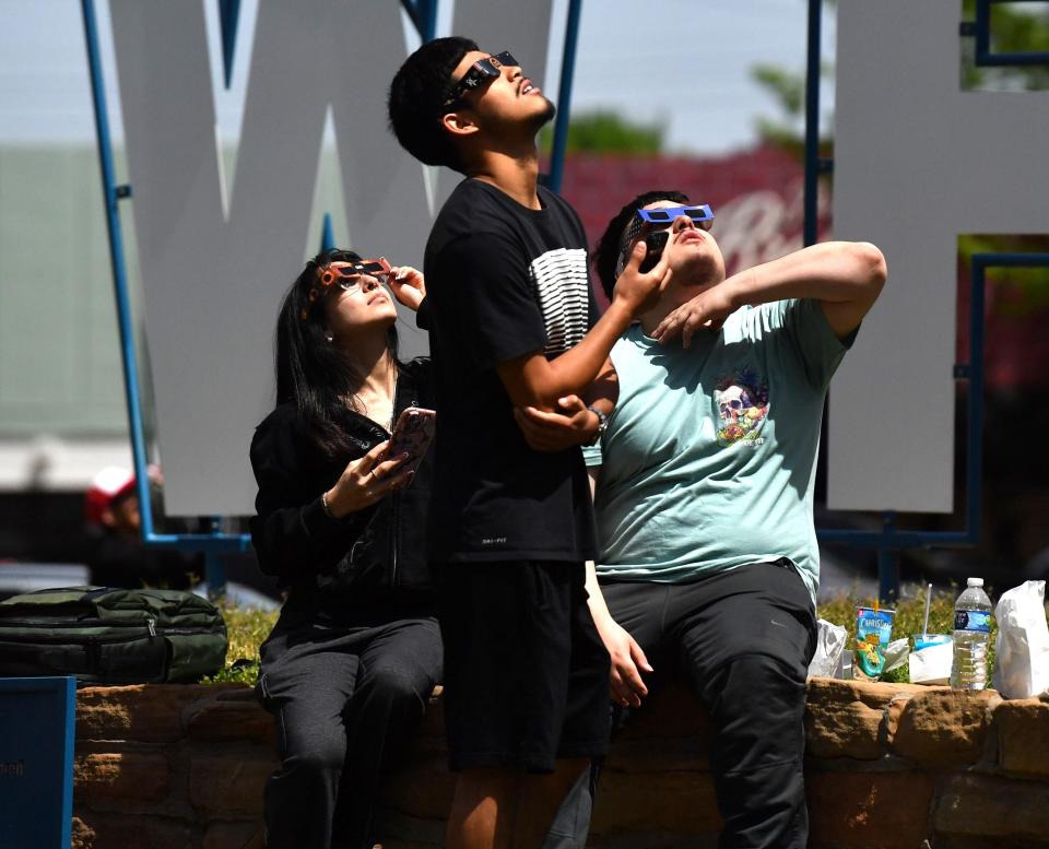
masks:
[[[579,219],[538,186],[535,134],[554,107],[509,54],[464,38],[423,45],[393,79],[389,110],[410,153],[467,177],[425,257],[438,401],[429,549],[460,770],[448,846],[539,847],[608,746],[609,657],[586,603],[594,528],[577,446],[611,408],[588,390],[669,272],[660,262],[641,274],[640,246],[597,318]],[[592,403],[559,404],[574,393]],[[514,414],[523,406],[570,415],[571,444],[529,447]]]

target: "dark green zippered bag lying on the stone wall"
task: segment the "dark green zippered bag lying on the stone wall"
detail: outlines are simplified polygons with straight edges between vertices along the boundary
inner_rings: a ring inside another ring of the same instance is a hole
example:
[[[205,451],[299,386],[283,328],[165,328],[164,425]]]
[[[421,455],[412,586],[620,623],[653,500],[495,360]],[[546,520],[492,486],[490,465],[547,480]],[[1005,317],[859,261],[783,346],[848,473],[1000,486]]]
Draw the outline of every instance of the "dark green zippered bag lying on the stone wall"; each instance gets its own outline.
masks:
[[[227,645],[217,608],[180,590],[66,587],[0,601],[0,675],[191,682],[222,669]]]

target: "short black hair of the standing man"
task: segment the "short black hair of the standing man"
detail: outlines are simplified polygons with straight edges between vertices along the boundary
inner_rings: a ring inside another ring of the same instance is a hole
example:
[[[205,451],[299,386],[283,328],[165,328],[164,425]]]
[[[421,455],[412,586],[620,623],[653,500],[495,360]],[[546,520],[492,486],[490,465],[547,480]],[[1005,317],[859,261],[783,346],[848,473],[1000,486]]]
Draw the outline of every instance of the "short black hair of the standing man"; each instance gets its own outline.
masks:
[[[440,119],[448,111],[444,104],[456,66],[476,49],[469,38],[435,38],[408,57],[390,83],[386,102],[390,129],[401,146],[426,165],[447,165],[458,172],[464,167]]]

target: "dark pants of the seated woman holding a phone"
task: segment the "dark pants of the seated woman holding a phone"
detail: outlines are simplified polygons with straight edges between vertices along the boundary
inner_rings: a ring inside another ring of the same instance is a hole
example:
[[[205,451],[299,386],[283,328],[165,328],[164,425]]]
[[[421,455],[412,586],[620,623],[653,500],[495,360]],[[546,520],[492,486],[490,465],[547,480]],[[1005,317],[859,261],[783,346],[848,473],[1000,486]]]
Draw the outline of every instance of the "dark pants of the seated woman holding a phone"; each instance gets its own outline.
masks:
[[[380,768],[440,679],[436,620],[278,623],[261,658],[281,757],[266,788],[268,849],[372,849]]]

